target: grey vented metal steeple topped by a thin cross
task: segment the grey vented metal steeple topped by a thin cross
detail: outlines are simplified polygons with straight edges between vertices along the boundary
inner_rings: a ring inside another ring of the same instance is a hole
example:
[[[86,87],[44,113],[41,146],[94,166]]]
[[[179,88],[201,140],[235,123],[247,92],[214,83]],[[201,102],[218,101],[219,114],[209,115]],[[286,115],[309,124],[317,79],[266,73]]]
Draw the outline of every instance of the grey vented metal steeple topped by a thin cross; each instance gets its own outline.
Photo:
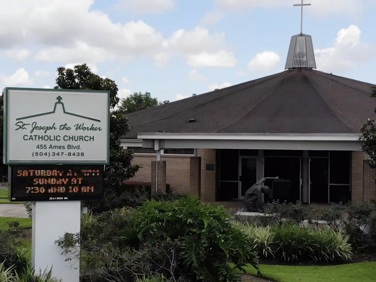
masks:
[[[300,22],[300,34],[291,37],[290,48],[288,49],[285,70],[290,68],[316,68],[315,54],[311,35],[303,34],[303,6],[311,4],[296,4],[302,7],[302,18]]]

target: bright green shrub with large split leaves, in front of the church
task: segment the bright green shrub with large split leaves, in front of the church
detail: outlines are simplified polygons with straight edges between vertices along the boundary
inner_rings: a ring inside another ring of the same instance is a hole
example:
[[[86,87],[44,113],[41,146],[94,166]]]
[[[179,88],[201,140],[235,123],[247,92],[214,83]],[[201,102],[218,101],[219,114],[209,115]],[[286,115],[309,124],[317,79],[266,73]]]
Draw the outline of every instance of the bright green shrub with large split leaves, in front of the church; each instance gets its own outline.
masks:
[[[237,269],[243,270],[246,263],[258,269],[258,258],[247,246],[247,235],[230,219],[222,206],[204,205],[197,199],[149,201],[133,212],[123,244],[139,250],[144,244],[177,240],[180,276],[195,281],[236,281]]]

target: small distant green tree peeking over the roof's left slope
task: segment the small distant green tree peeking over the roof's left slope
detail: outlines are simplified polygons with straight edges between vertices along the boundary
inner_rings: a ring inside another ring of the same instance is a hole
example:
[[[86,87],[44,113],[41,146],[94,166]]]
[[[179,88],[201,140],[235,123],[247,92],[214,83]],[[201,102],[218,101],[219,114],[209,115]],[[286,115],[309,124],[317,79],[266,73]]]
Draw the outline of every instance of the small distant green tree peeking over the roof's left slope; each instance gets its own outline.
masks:
[[[146,92],[142,94],[141,92],[134,92],[132,95],[125,99],[121,99],[120,109],[126,114],[130,114],[135,111],[143,110],[146,108],[163,105],[169,103],[170,101],[158,102],[157,98],[150,97],[150,93]]]

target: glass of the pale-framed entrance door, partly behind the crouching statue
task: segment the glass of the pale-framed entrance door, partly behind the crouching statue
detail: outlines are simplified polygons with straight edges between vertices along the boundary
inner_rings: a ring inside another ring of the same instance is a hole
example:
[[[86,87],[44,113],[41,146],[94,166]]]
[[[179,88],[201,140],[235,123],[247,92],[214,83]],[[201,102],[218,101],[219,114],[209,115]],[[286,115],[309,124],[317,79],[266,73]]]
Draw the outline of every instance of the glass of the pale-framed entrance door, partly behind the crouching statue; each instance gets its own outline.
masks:
[[[239,190],[238,197],[243,199],[244,193],[253,184],[256,183],[257,178],[257,157],[243,157],[239,158]]]

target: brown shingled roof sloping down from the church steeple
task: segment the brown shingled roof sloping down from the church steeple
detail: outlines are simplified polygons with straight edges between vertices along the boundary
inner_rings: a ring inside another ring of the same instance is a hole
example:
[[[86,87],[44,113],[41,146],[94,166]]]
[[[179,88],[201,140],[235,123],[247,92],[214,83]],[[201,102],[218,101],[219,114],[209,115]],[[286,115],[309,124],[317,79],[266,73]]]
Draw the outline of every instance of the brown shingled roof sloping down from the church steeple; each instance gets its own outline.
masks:
[[[130,132],[359,133],[374,117],[370,83],[288,70],[129,114]],[[196,122],[189,122],[196,119]]]

